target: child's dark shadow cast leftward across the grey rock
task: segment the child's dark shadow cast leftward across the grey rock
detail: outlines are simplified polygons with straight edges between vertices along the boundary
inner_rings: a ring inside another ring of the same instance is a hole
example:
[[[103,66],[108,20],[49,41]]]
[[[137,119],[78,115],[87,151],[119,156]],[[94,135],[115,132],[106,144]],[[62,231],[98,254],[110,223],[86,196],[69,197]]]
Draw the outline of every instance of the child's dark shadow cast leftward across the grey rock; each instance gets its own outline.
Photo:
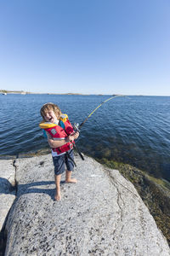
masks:
[[[65,181],[61,181],[60,183],[64,184]],[[54,181],[40,181],[25,184],[16,184],[15,186],[13,186],[11,183],[9,183],[8,179],[0,177],[0,194],[14,195],[16,193],[17,198],[19,198],[21,195],[39,193],[47,194],[54,200],[55,186],[53,189],[48,188],[50,185],[54,184]],[[47,186],[47,188],[35,188],[37,186]]]

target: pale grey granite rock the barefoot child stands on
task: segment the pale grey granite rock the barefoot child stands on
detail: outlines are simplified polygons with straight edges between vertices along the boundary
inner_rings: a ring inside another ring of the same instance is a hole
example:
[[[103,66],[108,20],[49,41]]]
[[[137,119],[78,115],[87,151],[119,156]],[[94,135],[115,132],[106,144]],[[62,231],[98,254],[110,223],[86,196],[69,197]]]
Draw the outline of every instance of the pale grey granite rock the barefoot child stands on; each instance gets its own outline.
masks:
[[[50,154],[0,161],[1,201],[12,197],[5,255],[170,255],[132,183],[87,156],[76,162],[79,182],[62,182],[56,202]]]

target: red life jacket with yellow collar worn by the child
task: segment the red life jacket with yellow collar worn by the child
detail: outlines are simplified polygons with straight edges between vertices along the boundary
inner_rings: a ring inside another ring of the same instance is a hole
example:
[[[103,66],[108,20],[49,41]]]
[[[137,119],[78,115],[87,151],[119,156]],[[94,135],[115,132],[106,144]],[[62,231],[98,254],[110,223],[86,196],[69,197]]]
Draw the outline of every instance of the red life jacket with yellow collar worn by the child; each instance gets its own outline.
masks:
[[[56,140],[63,139],[70,135],[72,132],[74,132],[73,127],[68,119],[67,114],[62,114],[59,123],[63,123],[65,128],[62,128],[60,125],[56,125],[50,122],[42,122],[39,124],[40,128],[44,129],[45,131],[48,131],[48,133],[51,135],[51,137],[56,138]],[[63,125],[62,125],[63,126]],[[52,148],[54,152],[57,152],[57,154],[64,153],[70,149],[73,148],[75,142],[65,143],[65,145],[59,147],[59,148]]]

